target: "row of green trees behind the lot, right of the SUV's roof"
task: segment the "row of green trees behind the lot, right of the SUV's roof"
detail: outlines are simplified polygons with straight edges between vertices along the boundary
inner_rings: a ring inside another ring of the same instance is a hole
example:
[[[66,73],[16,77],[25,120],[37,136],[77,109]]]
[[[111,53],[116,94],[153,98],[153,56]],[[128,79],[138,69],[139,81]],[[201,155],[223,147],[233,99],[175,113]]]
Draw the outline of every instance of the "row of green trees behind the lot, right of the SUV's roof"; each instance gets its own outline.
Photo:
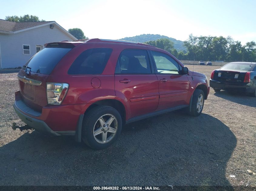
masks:
[[[184,46],[188,52],[177,52],[177,50],[173,48],[173,43],[169,43],[169,41],[169,39],[158,39],[145,43],[164,49],[179,60],[222,60],[227,62],[256,61],[256,43],[254,41],[247,42],[243,46],[240,41],[234,41],[230,36],[227,38],[222,36],[196,37],[193,36],[193,34],[190,34],[188,40],[184,41]]]

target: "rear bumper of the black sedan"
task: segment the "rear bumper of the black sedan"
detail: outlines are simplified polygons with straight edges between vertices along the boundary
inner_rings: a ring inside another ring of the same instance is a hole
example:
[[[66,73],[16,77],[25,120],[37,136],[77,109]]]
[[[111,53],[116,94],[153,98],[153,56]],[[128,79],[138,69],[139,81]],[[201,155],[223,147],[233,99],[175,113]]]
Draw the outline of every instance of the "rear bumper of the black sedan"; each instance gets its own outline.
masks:
[[[227,89],[236,89],[236,90],[240,90],[240,91],[244,91],[247,93],[252,93],[254,92],[254,90],[251,88],[250,83],[246,84],[246,83],[227,83],[227,82],[221,82],[221,81],[217,81],[217,80],[212,80],[210,79],[210,87],[211,88],[215,88],[215,89],[219,89],[219,90],[227,90]]]

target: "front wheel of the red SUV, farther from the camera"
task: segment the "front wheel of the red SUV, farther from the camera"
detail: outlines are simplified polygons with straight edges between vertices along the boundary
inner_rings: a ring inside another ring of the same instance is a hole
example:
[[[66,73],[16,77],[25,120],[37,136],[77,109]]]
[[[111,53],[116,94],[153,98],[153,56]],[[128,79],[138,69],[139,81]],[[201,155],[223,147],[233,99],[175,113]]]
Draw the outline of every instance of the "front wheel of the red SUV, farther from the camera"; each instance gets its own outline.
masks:
[[[191,104],[191,111],[189,115],[191,116],[199,116],[202,113],[204,108],[204,92],[200,89],[195,89],[192,104]]]

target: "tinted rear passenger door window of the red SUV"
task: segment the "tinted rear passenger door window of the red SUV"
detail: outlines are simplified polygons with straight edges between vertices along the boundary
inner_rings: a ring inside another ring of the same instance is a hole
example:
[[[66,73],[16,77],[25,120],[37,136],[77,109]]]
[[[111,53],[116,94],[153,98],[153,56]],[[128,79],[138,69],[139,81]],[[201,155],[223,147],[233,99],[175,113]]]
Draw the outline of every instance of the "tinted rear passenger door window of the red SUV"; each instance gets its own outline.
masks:
[[[147,50],[127,49],[121,52],[116,74],[150,74],[151,67]]]

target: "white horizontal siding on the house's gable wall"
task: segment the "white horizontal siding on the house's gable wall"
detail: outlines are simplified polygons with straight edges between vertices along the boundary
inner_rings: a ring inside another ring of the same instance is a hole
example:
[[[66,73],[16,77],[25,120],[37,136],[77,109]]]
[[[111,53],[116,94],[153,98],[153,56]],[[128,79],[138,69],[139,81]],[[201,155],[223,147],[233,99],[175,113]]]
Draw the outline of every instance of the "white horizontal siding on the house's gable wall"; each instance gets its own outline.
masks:
[[[23,66],[35,55],[36,45],[62,40],[74,39],[56,25],[53,29],[50,29],[50,25],[46,25],[15,34],[0,33],[1,68]],[[30,55],[23,54],[23,44],[30,45]]]

